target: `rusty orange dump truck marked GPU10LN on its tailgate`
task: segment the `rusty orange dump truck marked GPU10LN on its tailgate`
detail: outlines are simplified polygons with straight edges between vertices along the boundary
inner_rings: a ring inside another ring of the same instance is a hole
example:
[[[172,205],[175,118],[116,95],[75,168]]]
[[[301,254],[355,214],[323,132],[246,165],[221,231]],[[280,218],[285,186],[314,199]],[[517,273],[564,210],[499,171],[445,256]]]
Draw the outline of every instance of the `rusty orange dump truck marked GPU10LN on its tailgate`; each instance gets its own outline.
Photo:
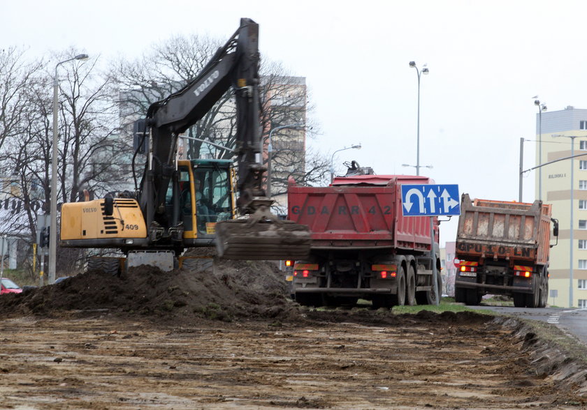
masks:
[[[478,305],[485,294],[502,294],[512,296],[516,307],[546,306],[551,222],[558,240],[550,205],[472,201],[463,194],[456,234],[456,301]]]

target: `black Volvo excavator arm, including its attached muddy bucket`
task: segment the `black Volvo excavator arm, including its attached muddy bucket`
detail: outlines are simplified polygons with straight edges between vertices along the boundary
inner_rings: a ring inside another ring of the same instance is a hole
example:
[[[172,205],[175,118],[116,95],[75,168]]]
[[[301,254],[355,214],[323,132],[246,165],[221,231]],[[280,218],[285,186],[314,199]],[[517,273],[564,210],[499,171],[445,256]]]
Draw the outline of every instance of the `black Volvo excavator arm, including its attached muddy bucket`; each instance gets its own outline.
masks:
[[[177,218],[171,222],[160,218],[170,182],[173,197],[178,197],[178,135],[202,119],[232,88],[237,115],[237,206],[242,215],[252,216],[217,223],[219,255],[231,259],[298,259],[309,252],[307,227],[278,220],[270,213],[272,201],[262,186],[266,168],[256,162],[261,138],[258,42],[259,25],[241,19],[239,29],[194,80],[147,110],[143,135],[150,135],[150,149],[140,184],[139,205],[150,237],[166,231],[166,235],[181,241],[182,229]]]

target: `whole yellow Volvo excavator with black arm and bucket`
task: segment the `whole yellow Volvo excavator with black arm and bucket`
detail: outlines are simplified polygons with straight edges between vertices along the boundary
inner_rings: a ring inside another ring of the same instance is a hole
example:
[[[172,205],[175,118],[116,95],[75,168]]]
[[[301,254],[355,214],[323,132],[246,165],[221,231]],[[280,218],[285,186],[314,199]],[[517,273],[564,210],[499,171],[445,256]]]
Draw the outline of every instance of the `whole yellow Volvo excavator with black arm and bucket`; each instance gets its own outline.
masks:
[[[64,204],[59,245],[120,250],[126,266],[167,269],[186,248],[195,247],[216,246],[226,259],[303,259],[308,254],[307,226],[270,213],[272,201],[263,190],[258,39],[259,25],[241,19],[194,80],[150,105],[146,118],[135,123],[139,141],[133,174],[138,150],[147,147],[136,193]],[[180,134],[231,87],[236,168],[233,160],[177,160]]]

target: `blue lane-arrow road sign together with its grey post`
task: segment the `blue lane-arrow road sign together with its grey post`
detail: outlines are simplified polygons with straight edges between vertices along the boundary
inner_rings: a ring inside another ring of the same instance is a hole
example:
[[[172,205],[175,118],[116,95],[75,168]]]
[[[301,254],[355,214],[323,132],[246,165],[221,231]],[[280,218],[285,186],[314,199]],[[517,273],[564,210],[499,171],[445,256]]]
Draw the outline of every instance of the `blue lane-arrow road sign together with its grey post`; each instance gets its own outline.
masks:
[[[436,305],[440,304],[438,272],[434,250],[434,217],[461,215],[458,185],[402,185],[402,212],[404,216],[430,217],[430,263]]]

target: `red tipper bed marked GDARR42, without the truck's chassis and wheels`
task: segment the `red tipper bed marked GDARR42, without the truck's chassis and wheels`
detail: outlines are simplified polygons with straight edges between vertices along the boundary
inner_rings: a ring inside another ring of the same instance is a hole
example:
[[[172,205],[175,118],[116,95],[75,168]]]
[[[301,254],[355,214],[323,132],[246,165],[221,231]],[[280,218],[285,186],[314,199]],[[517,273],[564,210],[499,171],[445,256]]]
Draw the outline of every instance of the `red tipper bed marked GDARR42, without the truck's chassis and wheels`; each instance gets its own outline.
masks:
[[[428,182],[422,176],[363,175],[321,188],[290,183],[288,218],[310,227],[312,249],[429,251],[430,220],[403,216],[400,188]]]

